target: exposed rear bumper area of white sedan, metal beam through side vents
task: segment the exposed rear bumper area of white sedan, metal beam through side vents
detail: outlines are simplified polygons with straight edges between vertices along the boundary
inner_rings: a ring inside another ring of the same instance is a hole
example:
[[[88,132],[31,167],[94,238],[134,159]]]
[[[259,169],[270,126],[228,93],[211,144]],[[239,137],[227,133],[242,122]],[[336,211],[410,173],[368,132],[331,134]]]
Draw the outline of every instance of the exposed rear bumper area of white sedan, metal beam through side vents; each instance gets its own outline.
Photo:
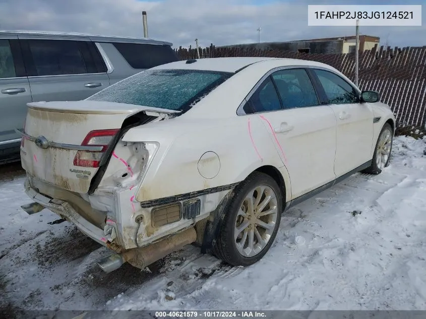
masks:
[[[84,200],[75,195],[74,198],[67,199],[66,195],[70,195],[70,192],[62,189],[63,193],[60,193],[60,188],[54,185],[49,185],[48,188],[46,185],[28,175],[25,193],[35,203],[75,224],[88,237],[116,252],[147,246],[193,227],[197,222],[208,218],[234,187],[232,184],[231,187],[215,187],[191,194],[134,203],[135,190],[130,188],[107,197],[94,194],[90,199]],[[87,206],[76,207],[77,199]],[[103,210],[101,206],[105,206]],[[93,215],[95,211],[100,214],[96,218]]]

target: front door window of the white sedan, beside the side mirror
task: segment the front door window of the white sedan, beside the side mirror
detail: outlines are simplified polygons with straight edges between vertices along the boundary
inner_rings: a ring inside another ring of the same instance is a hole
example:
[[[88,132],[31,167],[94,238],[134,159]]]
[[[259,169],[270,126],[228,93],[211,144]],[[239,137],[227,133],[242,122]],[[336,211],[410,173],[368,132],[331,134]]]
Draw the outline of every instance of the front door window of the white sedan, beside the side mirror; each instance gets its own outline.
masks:
[[[324,70],[314,70],[325,94],[331,104],[358,103],[359,99],[355,89],[334,73]]]

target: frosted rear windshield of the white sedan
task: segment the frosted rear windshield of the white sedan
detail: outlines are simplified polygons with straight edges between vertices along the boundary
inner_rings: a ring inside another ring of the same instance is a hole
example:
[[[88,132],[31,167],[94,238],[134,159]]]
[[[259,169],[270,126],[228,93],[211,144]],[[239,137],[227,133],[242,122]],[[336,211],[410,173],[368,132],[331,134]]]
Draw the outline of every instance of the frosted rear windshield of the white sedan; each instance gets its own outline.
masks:
[[[186,111],[231,75],[198,70],[146,70],[111,85],[87,100]]]

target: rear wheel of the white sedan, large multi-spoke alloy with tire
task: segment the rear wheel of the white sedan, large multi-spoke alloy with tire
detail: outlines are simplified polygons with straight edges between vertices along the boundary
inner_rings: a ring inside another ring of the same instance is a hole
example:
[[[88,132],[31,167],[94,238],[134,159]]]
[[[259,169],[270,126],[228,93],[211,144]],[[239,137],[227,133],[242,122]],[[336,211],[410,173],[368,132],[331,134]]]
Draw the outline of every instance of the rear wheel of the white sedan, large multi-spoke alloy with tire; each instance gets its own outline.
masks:
[[[271,176],[260,172],[249,175],[234,189],[213,242],[213,254],[232,266],[258,262],[275,239],[282,206],[282,192]]]

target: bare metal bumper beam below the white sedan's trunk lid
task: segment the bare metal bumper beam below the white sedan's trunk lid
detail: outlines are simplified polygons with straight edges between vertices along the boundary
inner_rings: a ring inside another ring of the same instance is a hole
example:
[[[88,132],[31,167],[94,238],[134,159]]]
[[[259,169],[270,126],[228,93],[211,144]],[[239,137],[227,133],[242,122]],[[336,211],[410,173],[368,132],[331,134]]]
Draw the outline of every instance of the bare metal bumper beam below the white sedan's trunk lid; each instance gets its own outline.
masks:
[[[86,236],[92,238],[98,243],[109,247],[107,239],[104,237],[103,229],[100,229],[87,221],[85,218],[80,216],[77,211],[71,207],[70,204],[64,201],[51,199],[38,193],[34,188],[31,187],[30,181],[25,181],[25,193],[34,202],[44,206],[59,216],[67,219],[69,222],[77,226],[77,228],[83,232]],[[111,248],[111,247],[109,247]]]

